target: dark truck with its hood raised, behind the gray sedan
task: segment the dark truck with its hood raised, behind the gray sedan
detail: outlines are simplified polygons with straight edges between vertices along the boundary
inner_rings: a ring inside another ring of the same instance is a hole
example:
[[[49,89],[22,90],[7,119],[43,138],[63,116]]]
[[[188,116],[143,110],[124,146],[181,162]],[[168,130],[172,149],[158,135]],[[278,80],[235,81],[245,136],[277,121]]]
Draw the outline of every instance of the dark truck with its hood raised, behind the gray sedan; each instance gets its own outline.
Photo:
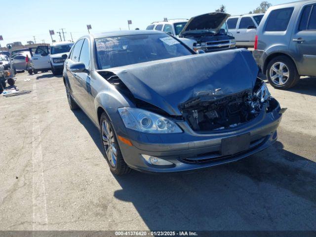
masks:
[[[205,52],[236,47],[235,38],[228,33],[226,20],[230,14],[211,12],[192,17],[179,34],[180,39],[196,40],[192,48]]]

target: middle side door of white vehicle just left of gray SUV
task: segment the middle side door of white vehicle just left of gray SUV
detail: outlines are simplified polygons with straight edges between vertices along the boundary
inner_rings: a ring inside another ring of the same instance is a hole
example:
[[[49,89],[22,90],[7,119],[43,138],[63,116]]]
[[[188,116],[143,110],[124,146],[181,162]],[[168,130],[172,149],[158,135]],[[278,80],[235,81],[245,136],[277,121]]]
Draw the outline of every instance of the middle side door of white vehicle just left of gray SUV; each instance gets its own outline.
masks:
[[[238,43],[241,43],[243,46],[254,46],[256,32],[257,27],[252,18],[249,16],[241,17],[236,32]]]

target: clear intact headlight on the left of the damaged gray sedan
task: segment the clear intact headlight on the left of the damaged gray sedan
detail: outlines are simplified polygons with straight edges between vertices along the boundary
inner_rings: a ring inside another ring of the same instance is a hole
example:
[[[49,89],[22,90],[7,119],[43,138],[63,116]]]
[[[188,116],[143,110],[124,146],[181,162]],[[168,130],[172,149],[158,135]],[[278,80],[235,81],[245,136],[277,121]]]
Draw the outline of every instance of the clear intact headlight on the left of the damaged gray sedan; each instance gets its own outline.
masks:
[[[119,108],[118,113],[125,127],[147,133],[180,133],[182,130],[173,121],[152,112],[137,108]]]

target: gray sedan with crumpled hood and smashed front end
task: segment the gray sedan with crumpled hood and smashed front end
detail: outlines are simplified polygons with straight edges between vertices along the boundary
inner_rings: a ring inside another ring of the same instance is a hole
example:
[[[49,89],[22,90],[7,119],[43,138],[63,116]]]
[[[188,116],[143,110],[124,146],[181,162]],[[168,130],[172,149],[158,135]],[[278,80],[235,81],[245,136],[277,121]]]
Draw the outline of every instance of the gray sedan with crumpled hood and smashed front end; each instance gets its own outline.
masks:
[[[245,49],[196,54],[158,31],[80,38],[63,79],[115,174],[223,164],[271,146],[283,109]]]

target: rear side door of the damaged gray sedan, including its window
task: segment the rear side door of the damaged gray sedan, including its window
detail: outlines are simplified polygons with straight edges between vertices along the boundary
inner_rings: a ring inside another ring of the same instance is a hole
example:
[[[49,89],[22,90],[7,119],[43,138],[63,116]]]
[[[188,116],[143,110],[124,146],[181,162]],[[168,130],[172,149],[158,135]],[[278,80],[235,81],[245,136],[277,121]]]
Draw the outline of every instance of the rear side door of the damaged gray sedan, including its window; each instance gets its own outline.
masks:
[[[70,89],[72,91],[72,96],[74,97],[75,101],[77,102],[77,104],[79,104],[79,106],[81,107],[81,104],[79,102],[80,98],[79,98],[79,92],[80,92],[80,84],[78,82],[78,76],[77,73],[74,72],[70,72],[69,71],[69,67],[73,64],[73,63],[78,63],[79,62],[79,57],[80,57],[80,51],[81,51],[81,47],[82,47],[82,43],[83,43],[84,39],[78,40],[76,42],[76,44],[74,45],[74,48],[70,54],[69,59],[66,61],[66,71],[67,71],[67,77],[70,83]]]

